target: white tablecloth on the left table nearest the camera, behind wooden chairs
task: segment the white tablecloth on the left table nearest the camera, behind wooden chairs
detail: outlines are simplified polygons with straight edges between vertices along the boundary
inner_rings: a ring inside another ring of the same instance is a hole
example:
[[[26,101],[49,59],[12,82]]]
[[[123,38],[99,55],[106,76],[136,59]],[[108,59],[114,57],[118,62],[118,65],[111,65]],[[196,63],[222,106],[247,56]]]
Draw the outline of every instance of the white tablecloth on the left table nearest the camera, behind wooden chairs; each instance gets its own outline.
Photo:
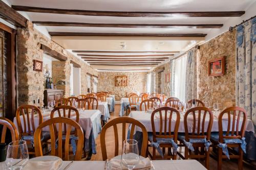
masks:
[[[57,116],[55,116],[57,117]],[[27,117],[25,116],[26,120]],[[75,120],[76,116],[71,116],[71,119]],[[46,120],[50,119],[50,111],[46,111],[45,114],[43,114],[43,122],[45,122]],[[95,121],[97,119],[97,121]],[[99,119],[99,120],[98,120]],[[23,117],[20,116],[20,122],[22,122],[22,127],[23,126]],[[27,121],[26,121],[27,122]],[[97,124],[100,124],[100,111],[99,110],[82,110],[79,111],[79,125],[82,127],[82,129],[84,131],[86,131],[86,134],[84,134],[86,136],[87,139],[89,139],[91,130],[93,128],[93,122],[96,122]],[[17,127],[17,120],[16,117],[14,117],[13,119],[13,123],[14,125]],[[30,121],[31,124],[31,121]],[[39,124],[39,116],[35,116],[34,117],[34,124],[35,124],[35,128],[38,127]],[[31,130],[32,130],[32,126]],[[28,128],[28,126],[27,126]],[[99,128],[97,125],[94,127],[93,131],[94,131],[94,137],[96,138],[98,136],[97,131],[99,132],[100,130],[95,129],[95,128]],[[17,127],[18,129],[18,127]],[[28,129],[27,129],[28,131]],[[49,127],[45,128],[44,131],[49,131]]]

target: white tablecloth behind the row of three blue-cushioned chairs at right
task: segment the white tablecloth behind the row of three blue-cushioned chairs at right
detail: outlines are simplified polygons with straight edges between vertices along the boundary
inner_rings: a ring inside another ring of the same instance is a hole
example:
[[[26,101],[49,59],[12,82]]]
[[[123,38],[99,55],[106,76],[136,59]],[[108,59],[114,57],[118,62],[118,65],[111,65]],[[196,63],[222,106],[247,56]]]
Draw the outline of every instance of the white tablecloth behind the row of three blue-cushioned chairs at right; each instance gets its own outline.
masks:
[[[151,113],[145,113],[145,111],[131,111],[129,116],[138,120],[139,122],[141,122],[145,126],[147,132],[152,132]],[[185,132],[183,118],[184,117],[181,115],[181,120],[180,120],[180,125],[179,125],[179,131],[178,132]],[[155,118],[154,122],[155,122],[156,132],[159,132],[160,119]],[[226,124],[225,124],[225,122],[226,122]],[[172,118],[172,125],[171,125],[172,126],[171,127],[172,131],[174,130],[175,123],[176,123],[176,115],[174,114],[173,118]],[[240,126],[241,125],[242,125],[242,120],[240,120]],[[188,121],[187,126],[188,126],[188,130],[191,131],[192,130],[191,127],[193,126],[193,120]],[[200,126],[202,126],[202,124]],[[207,126],[208,126],[208,122],[207,122],[207,119],[205,119],[205,127],[204,127],[205,130],[207,129]],[[168,128],[168,125],[167,125],[167,128]],[[230,129],[231,129],[231,127],[230,127]],[[136,130],[140,131],[140,128],[138,128]],[[196,130],[197,130],[197,123],[196,123]],[[246,125],[245,130],[248,131],[248,132],[254,132],[254,126],[253,126],[253,123],[250,119],[247,120],[247,125]],[[216,119],[216,118],[214,119],[214,122],[212,124],[211,131],[212,132],[218,132],[219,131],[218,119]],[[227,121],[223,121],[223,131],[227,131]]]

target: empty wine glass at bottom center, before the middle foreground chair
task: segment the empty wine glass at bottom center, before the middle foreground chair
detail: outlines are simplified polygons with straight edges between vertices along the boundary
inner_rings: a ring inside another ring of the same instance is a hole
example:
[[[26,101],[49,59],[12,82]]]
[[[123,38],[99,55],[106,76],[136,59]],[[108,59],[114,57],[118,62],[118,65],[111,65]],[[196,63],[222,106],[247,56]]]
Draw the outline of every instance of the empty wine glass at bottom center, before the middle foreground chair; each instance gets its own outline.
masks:
[[[123,152],[121,156],[122,165],[126,166],[129,170],[133,169],[139,164],[139,149],[138,142],[134,139],[126,139],[123,141]]]

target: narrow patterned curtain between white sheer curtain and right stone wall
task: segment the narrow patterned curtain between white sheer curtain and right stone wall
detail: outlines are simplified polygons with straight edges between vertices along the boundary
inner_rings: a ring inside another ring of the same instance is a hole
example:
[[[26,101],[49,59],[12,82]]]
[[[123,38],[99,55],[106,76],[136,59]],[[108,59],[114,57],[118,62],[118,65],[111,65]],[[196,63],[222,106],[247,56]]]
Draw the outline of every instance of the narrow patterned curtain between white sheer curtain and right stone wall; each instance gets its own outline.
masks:
[[[187,52],[186,64],[186,101],[197,99],[197,50]]]

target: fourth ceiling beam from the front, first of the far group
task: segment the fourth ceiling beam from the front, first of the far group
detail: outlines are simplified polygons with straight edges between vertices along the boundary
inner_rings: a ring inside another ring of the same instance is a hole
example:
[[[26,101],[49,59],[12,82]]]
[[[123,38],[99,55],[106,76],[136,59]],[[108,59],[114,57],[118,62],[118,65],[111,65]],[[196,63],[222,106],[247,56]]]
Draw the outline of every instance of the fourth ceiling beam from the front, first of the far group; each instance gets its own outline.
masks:
[[[72,50],[73,53],[179,53],[180,51],[90,51]]]

